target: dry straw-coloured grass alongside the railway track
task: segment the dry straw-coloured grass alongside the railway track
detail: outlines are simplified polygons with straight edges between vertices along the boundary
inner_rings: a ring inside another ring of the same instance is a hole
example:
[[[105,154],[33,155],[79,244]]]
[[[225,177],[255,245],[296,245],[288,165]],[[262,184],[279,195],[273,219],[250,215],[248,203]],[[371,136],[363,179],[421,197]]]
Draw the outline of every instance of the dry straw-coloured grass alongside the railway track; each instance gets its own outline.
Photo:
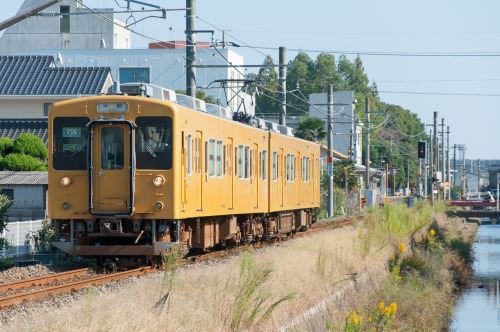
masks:
[[[364,252],[359,230],[348,227],[286,242],[253,255],[256,267],[270,269],[255,294],[265,294],[263,311],[248,327],[276,330],[308,307],[340,289],[354,274],[369,273],[373,262],[384,262],[392,248]],[[82,300],[5,326],[15,331],[230,331],[241,291],[242,256],[177,271],[169,305],[162,314],[152,308],[160,299],[163,276],[143,278],[119,292],[98,295],[89,290]],[[279,303],[264,320],[262,314]],[[240,328],[244,325],[240,325]]]

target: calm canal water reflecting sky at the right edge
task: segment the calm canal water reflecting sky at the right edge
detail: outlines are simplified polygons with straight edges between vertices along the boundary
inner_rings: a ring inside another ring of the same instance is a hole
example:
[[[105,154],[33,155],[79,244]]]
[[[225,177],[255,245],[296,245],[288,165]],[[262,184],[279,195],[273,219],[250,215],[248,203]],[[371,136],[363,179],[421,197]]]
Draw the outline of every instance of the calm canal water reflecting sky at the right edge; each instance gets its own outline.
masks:
[[[500,225],[478,228],[474,258],[474,277],[458,301],[450,330],[500,332]]]

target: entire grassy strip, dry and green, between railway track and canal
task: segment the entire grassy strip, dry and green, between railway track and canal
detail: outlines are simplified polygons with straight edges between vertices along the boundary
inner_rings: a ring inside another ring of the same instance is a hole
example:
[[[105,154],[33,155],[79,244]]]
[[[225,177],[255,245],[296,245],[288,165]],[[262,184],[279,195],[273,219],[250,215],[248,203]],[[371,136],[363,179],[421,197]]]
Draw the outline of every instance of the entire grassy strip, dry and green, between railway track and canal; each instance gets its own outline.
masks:
[[[440,298],[443,294],[454,294],[455,288],[449,281],[451,273],[431,269],[440,265],[438,255],[425,250],[422,254],[431,256],[422,256],[425,266],[419,273],[408,272],[398,279],[390,276],[389,267],[401,239],[406,241],[410,253],[410,236],[428,234],[429,227],[436,222],[434,213],[425,205],[413,209],[389,205],[372,210],[363,222],[352,227],[298,238],[219,262],[180,268],[175,271],[175,278],[167,278],[168,282],[165,274],[158,274],[141,278],[116,292],[89,291],[82,294],[82,300],[70,305],[18,315],[0,329],[269,331],[288,326],[290,330],[301,331],[326,330],[327,320],[332,329],[342,330],[347,311],[352,320],[352,312],[356,310],[354,317],[359,322],[358,314],[363,315],[366,323],[370,312],[375,321],[381,310],[380,302],[384,302],[383,310],[394,308],[391,307],[394,302],[397,310],[390,309],[395,318],[390,319],[388,326],[405,331],[417,326],[420,331],[431,331],[427,327],[437,325],[424,321],[436,313],[446,317],[449,310],[439,308],[449,308],[449,303],[452,306],[453,301]],[[436,230],[441,231],[440,227]],[[447,262],[448,255],[444,251],[442,255]],[[357,283],[351,296],[328,309],[329,317],[312,315],[290,325],[308,308],[343,292],[352,280],[362,276],[369,276],[370,281],[364,286]],[[427,279],[418,279],[423,276]],[[449,289],[449,293],[443,293],[443,289]],[[158,300],[167,291],[168,306],[158,310]]]

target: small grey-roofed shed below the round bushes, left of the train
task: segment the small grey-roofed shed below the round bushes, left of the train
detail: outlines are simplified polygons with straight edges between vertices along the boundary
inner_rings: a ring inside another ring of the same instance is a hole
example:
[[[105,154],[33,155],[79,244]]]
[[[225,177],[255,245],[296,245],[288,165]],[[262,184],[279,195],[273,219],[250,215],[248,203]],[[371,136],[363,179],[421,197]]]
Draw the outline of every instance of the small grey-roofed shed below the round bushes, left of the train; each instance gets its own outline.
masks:
[[[0,171],[0,194],[13,200],[9,221],[45,218],[47,172]]]

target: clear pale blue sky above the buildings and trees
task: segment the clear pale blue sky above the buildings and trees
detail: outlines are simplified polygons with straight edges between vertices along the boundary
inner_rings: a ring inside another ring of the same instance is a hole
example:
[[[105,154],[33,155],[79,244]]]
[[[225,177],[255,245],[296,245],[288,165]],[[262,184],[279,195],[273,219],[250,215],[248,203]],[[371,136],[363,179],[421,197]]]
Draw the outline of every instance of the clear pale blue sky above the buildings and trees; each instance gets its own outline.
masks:
[[[165,8],[186,5],[179,0],[141,1]],[[15,15],[22,1],[2,2],[0,21]],[[115,0],[85,0],[85,4],[117,8]],[[467,145],[467,158],[500,159],[495,144],[500,126],[499,13],[500,2],[495,0],[198,0],[197,15],[209,24],[198,20],[197,29],[215,29],[219,40],[219,29],[230,30],[227,41],[271,48],[235,48],[246,64],[261,64],[267,54],[278,59],[279,46],[287,47],[287,60],[295,57],[293,49],[332,51],[336,57],[359,52],[382,101],[417,113],[429,124],[437,111],[439,123],[444,117],[450,126],[451,144]],[[184,13],[168,13],[167,20],[148,19],[133,29],[156,39],[182,40]],[[198,40],[209,41],[209,35],[199,35]],[[145,48],[148,42],[132,37],[133,48]],[[468,56],[364,54],[369,52]],[[318,54],[308,53],[313,59]],[[487,53],[493,56],[470,56]]]

